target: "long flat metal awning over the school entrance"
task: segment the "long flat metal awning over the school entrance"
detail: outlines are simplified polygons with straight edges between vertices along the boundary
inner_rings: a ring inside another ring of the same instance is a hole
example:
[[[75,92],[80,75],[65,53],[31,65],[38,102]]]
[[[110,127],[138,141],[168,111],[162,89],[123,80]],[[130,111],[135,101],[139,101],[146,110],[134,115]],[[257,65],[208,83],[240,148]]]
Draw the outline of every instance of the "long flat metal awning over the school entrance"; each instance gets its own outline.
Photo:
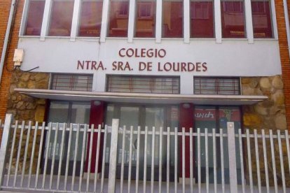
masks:
[[[199,105],[251,105],[268,99],[256,95],[218,94],[144,94],[127,92],[83,92],[67,90],[41,90],[15,88],[15,92],[35,98],[67,101],[107,101],[122,103],[195,103]]]

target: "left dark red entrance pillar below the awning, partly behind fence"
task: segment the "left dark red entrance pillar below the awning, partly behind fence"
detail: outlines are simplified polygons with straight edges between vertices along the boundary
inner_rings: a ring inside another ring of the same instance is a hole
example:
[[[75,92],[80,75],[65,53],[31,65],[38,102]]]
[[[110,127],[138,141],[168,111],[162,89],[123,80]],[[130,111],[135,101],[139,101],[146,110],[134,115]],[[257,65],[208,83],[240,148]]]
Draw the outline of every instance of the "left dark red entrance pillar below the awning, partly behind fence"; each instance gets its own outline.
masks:
[[[102,125],[104,121],[104,110],[105,110],[105,103],[101,101],[98,106],[95,106],[94,101],[90,103],[90,125],[94,124],[94,128],[97,129],[99,124]],[[103,137],[101,136],[100,147],[102,147]],[[87,159],[85,161],[85,171],[88,172],[88,158],[89,158],[89,150],[90,150],[90,134],[88,134],[88,145],[87,145]],[[102,154],[103,148],[99,150],[99,166],[98,171],[101,171],[102,166]],[[92,137],[92,162],[90,165],[90,172],[95,173],[95,162],[96,162],[96,155],[97,155],[97,133],[94,134]]]

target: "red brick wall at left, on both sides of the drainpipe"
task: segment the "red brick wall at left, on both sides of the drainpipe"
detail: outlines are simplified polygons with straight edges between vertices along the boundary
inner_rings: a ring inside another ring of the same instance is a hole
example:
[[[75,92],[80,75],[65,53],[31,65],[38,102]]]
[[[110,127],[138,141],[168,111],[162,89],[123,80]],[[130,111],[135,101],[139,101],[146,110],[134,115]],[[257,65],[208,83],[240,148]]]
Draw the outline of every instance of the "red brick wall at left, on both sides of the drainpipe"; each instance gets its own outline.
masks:
[[[11,83],[11,71],[13,69],[13,55],[14,50],[18,46],[18,34],[20,29],[20,22],[22,17],[22,8],[24,0],[16,0],[18,5],[16,7],[17,13],[15,15],[15,23],[12,28],[11,41],[8,43],[7,57],[3,68],[1,84],[0,84],[0,119],[4,120],[6,114],[6,106],[8,101],[8,93]],[[0,2],[0,51],[4,45],[4,38],[6,34],[7,22],[11,10],[11,0],[1,0]],[[8,70],[7,70],[8,69]],[[0,136],[1,138],[1,136]]]

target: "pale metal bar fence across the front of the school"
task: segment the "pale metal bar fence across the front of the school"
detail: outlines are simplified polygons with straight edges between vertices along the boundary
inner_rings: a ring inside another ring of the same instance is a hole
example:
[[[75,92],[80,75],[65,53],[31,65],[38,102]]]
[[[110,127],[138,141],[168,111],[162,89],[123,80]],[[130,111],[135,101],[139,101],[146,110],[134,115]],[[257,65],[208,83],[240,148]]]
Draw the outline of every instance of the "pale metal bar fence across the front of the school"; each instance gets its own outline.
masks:
[[[0,122],[2,190],[290,192],[288,131],[12,121]]]

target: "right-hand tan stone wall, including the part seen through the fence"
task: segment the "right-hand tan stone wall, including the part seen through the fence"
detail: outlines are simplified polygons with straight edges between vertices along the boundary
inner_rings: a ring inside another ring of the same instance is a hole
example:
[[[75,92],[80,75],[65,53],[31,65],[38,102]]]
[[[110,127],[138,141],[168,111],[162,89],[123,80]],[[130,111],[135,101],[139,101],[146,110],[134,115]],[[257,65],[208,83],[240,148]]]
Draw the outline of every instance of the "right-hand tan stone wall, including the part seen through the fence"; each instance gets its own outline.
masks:
[[[250,134],[254,134],[254,129],[257,130],[258,134],[261,134],[261,129],[265,130],[265,134],[269,134],[269,130],[272,129],[273,134],[277,134],[277,130],[281,130],[284,134],[284,130],[287,129],[286,124],[286,110],[284,103],[284,85],[281,76],[263,77],[263,78],[242,78],[242,94],[244,95],[264,95],[268,96],[268,99],[254,104],[253,106],[243,106],[243,124],[244,129],[249,129]],[[251,149],[254,150],[254,138],[251,138]],[[244,141],[245,142],[245,141]],[[276,172],[273,171],[271,152],[270,152],[270,141],[266,140],[266,145],[268,147],[267,157],[268,157],[268,171],[270,178],[270,185],[273,184],[273,176],[277,177],[279,185],[282,185],[282,173],[279,159],[279,147],[277,139],[274,139],[275,146],[275,165]],[[258,143],[259,151],[259,165],[261,171],[261,183],[265,185],[265,165],[263,159],[263,143],[259,141]],[[290,187],[290,176],[289,176],[289,164],[287,158],[286,143],[282,143],[282,153],[284,156],[284,173],[286,177],[286,185]],[[249,183],[249,165],[247,152],[244,154],[244,163],[246,163],[246,179]],[[256,155],[254,151],[251,152],[251,167],[253,173],[254,184],[258,184],[256,176]]]

